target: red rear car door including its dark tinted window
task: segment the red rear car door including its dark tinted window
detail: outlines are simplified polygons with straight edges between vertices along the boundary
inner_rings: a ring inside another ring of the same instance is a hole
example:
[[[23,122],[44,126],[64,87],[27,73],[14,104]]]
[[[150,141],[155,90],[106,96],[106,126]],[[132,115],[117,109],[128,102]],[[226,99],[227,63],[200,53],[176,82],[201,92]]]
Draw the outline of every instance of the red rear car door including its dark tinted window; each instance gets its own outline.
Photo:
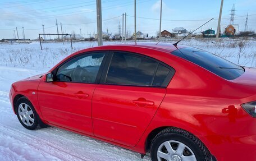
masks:
[[[113,52],[108,61],[93,96],[94,135],[135,146],[161,104],[174,70],[134,53]]]

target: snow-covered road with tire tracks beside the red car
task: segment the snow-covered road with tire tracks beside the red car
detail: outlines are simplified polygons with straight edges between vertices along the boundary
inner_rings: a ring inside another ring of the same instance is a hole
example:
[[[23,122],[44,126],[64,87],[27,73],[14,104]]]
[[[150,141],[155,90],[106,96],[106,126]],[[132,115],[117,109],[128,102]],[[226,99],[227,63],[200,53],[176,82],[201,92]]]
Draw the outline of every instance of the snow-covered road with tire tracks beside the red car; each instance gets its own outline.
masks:
[[[22,127],[11,109],[12,82],[42,71],[0,66],[0,160],[150,160],[140,154],[55,127]]]

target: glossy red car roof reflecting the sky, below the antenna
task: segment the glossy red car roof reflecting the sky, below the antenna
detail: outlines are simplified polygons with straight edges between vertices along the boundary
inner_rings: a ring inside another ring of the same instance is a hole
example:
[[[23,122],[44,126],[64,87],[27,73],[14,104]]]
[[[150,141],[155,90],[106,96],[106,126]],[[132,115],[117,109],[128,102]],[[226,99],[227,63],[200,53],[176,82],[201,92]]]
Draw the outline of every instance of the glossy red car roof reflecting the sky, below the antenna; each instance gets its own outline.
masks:
[[[149,49],[164,50],[166,52],[173,52],[174,50],[185,48],[185,45],[173,45],[172,43],[161,43],[161,42],[139,42],[139,43],[127,43],[127,44],[110,44],[103,45],[95,48],[107,48],[107,47],[141,47]]]

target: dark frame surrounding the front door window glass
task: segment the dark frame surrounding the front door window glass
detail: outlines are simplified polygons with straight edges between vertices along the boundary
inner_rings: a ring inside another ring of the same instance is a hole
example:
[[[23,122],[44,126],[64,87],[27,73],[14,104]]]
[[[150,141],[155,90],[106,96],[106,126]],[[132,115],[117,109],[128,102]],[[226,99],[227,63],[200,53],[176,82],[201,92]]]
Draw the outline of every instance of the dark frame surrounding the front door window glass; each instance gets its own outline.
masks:
[[[109,50],[95,50],[95,51],[90,51],[90,52],[84,52],[84,53],[80,53],[80,54],[77,54],[76,56],[74,57],[71,57],[71,58],[68,58],[66,61],[62,62],[59,66],[57,66],[56,68],[54,68],[54,70],[52,71],[53,73],[53,77],[54,77],[54,81],[55,82],[67,82],[67,81],[57,81],[56,80],[56,74],[58,72],[58,69],[64,65],[65,63],[67,63],[68,61],[71,61],[72,59],[75,59],[77,57],[80,57],[80,56],[90,56],[92,54],[96,54],[96,53],[105,53],[105,56],[102,60],[102,63],[100,64],[100,67],[99,67],[99,71],[97,73],[97,76],[96,76],[96,79],[95,79],[95,82],[93,83],[90,83],[90,82],[72,82],[70,81],[71,83],[82,83],[82,84],[99,84],[99,81],[100,81],[100,77],[102,76],[102,73],[103,73],[103,69],[104,69],[104,66],[106,65],[106,59],[108,57],[108,54],[109,54]],[[69,81],[68,81],[69,82]]]

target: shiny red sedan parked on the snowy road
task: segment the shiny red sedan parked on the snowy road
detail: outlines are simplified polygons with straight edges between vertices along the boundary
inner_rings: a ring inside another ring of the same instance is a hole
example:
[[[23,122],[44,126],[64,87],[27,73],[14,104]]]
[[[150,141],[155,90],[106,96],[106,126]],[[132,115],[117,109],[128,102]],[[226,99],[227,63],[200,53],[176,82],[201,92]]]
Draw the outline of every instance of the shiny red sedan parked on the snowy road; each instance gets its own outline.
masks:
[[[256,69],[167,43],[84,49],[12,84],[22,126],[51,125],[152,160],[256,160]]]

